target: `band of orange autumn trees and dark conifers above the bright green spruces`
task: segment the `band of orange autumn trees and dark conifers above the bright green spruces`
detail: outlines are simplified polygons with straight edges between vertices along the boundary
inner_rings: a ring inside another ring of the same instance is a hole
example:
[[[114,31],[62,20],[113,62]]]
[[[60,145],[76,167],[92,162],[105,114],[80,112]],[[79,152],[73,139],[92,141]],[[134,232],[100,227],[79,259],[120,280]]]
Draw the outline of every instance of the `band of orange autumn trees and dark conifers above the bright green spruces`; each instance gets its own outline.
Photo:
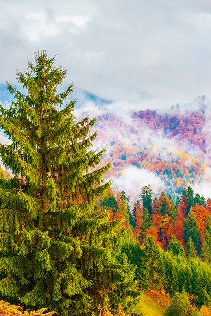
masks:
[[[176,201],[162,192],[153,197],[150,185],[142,188],[140,199],[130,212],[129,199],[125,192],[108,192],[101,201],[107,206],[111,219],[119,219],[124,227],[131,225],[140,244],[150,234],[155,241],[167,249],[174,235],[190,256],[195,251],[202,260],[211,260],[211,200],[194,194],[189,186]],[[193,250],[193,248],[195,250]]]

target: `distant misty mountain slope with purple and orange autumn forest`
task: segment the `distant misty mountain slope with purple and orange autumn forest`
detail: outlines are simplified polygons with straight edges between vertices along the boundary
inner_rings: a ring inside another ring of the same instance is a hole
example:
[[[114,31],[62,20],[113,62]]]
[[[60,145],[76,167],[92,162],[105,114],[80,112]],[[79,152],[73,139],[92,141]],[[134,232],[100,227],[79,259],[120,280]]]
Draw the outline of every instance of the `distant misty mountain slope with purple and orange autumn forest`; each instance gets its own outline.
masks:
[[[110,101],[79,89],[74,93],[78,116],[97,116],[94,147],[107,149],[101,164],[111,163],[105,176],[113,179],[115,189],[126,191],[132,201],[138,196],[139,186],[148,183],[157,194],[165,191],[174,199],[188,185],[208,197],[211,107],[204,96],[163,112],[141,110],[123,115],[111,110],[115,104],[110,107]],[[9,101],[3,86],[0,101]]]

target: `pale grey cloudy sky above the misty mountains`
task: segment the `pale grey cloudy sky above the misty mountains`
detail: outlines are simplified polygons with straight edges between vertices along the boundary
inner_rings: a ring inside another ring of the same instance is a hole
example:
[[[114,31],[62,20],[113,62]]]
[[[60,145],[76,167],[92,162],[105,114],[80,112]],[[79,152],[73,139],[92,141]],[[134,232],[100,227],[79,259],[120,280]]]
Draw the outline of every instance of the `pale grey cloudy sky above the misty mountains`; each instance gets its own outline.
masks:
[[[211,99],[210,0],[0,0],[0,83],[45,49],[74,83],[148,107]]]

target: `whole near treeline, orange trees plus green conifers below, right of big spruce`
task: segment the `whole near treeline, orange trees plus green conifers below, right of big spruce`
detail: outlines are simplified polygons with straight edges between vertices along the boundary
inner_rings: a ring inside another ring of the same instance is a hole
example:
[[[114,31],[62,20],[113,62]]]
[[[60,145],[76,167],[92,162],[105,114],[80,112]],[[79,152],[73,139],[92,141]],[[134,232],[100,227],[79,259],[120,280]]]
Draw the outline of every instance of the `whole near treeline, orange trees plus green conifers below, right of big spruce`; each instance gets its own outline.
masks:
[[[142,188],[132,214],[124,192],[110,189],[101,200],[111,219],[119,219],[122,230],[134,234],[122,251],[137,266],[141,290],[163,287],[172,297],[185,291],[193,294],[197,306],[211,303],[210,202],[191,187],[176,202],[164,192],[153,197],[149,185]]]

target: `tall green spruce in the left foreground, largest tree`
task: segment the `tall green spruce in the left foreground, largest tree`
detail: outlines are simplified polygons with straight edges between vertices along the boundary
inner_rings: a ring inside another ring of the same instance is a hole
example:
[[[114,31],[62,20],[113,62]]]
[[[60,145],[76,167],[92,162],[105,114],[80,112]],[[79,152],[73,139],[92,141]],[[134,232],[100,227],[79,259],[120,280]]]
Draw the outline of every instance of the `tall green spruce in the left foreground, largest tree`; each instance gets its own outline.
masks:
[[[94,208],[109,165],[96,168],[90,133],[96,120],[64,108],[72,85],[58,94],[66,71],[45,51],[17,72],[23,92],[8,84],[16,100],[1,106],[0,126],[13,141],[1,145],[3,164],[14,175],[0,185],[0,296],[60,315],[90,314],[108,295],[126,309],[138,294],[134,268],[119,253],[115,223]]]

